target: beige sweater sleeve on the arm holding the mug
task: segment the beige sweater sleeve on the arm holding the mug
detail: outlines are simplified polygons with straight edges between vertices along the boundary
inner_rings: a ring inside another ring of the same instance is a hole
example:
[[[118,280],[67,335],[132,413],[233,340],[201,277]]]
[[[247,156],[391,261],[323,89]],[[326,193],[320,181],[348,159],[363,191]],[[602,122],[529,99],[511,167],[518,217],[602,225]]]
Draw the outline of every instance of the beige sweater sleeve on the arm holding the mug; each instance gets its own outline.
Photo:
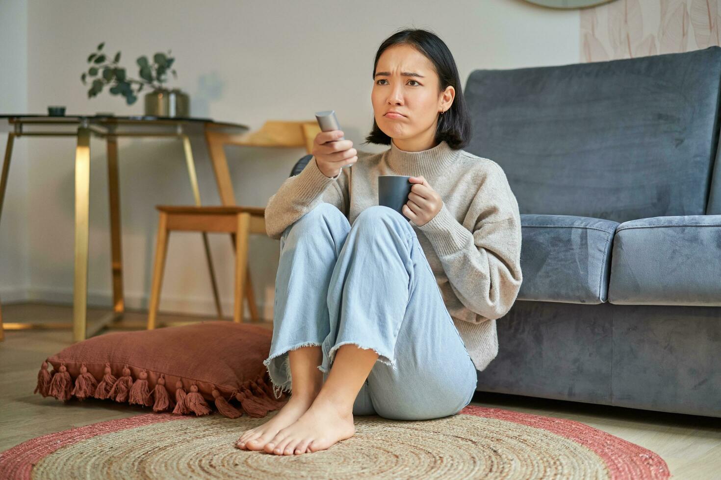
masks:
[[[420,229],[443,265],[451,289],[481,319],[503,317],[521,289],[521,217],[497,166],[474,196],[464,223],[443,204]]]

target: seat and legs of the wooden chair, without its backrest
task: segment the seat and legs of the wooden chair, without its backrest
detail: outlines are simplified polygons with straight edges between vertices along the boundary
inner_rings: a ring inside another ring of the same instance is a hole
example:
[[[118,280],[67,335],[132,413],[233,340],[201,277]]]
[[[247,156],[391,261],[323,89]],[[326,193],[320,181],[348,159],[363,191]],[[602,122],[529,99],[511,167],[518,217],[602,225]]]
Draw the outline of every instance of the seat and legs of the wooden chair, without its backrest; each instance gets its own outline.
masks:
[[[260,321],[248,270],[248,236],[250,233],[267,235],[265,232],[265,208],[158,205],[156,209],[160,212],[160,219],[153,267],[148,330],[156,327],[156,314],[160,302],[169,233],[173,230],[230,233],[233,236],[236,255],[233,321],[243,322],[244,297],[248,299],[252,321]]]

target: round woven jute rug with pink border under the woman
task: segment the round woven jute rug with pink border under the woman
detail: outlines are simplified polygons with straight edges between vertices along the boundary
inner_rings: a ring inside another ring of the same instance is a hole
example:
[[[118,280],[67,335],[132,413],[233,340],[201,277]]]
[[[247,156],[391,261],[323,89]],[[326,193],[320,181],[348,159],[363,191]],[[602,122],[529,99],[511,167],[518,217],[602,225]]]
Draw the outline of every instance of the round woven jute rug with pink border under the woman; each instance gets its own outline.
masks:
[[[267,417],[145,414],[28,440],[2,479],[667,479],[660,456],[572,420],[469,405],[435,420],[356,416],[352,438],[294,456],[234,443]]]

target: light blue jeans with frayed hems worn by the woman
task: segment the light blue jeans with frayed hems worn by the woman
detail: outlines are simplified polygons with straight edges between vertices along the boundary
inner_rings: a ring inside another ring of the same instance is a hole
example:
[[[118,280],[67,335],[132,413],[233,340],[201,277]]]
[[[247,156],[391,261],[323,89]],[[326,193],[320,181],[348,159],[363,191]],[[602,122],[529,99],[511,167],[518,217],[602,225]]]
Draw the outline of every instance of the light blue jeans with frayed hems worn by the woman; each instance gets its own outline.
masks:
[[[292,391],[288,350],[320,345],[325,381],[346,343],[379,355],[353,415],[446,417],[476,389],[476,368],[416,233],[388,207],[363,210],[351,227],[334,205],[320,203],[286,228],[273,322],[263,363],[276,395]]]

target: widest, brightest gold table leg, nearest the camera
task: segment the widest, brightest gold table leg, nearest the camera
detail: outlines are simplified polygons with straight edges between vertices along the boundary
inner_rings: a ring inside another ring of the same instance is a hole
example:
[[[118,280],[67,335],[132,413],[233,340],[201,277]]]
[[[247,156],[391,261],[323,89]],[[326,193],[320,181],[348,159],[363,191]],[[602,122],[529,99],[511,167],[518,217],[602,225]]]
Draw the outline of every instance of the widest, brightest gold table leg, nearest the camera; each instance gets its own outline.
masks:
[[[87,334],[87,286],[90,194],[90,130],[78,128],[75,150],[75,282],[73,287],[73,340]]]

